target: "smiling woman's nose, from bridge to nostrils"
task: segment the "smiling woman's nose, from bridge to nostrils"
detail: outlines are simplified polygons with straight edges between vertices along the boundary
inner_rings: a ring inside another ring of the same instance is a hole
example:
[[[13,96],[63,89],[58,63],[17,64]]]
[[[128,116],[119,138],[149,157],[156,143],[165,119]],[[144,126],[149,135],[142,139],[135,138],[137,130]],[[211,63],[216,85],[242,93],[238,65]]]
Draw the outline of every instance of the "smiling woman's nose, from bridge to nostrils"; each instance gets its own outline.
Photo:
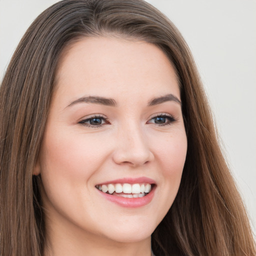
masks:
[[[117,164],[136,167],[154,159],[148,139],[139,125],[120,128],[115,145],[113,160]]]

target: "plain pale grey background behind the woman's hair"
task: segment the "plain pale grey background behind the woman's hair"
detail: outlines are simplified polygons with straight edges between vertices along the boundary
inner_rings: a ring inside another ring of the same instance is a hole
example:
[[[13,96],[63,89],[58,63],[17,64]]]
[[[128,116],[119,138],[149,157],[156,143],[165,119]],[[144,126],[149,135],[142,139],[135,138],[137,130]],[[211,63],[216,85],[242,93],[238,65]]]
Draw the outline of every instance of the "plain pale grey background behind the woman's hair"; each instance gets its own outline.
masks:
[[[256,0],[147,0],[187,41],[256,231]],[[0,0],[0,80],[26,28],[57,0]]]

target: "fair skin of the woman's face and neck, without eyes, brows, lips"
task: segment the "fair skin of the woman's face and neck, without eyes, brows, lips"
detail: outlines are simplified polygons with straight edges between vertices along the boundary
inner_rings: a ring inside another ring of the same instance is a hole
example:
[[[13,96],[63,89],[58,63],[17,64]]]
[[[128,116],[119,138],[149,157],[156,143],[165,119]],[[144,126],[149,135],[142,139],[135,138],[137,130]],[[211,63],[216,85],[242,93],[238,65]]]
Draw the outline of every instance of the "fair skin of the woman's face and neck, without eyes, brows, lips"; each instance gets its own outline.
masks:
[[[170,93],[180,100],[170,61],[144,41],[83,38],[62,53],[56,81],[34,169],[43,183],[45,255],[150,255],[150,235],[175,198],[187,148],[180,103],[148,106]],[[83,96],[112,98],[116,106],[70,105]],[[155,123],[162,114],[175,121]],[[93,115],[107,121],[89,126]],[[141,176],[156,183],[142,207],[117,205],[95,188]]]

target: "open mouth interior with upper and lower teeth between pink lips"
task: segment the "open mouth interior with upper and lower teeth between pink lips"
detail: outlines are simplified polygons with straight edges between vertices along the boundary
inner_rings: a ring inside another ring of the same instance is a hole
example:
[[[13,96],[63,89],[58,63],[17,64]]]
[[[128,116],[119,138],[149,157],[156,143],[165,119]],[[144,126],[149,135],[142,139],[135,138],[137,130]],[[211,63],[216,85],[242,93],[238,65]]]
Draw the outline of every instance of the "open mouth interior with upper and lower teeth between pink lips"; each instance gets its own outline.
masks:
[[[126,198],[137,198],[147,195],[154,184],[150,183],[109,183],[100,184],[95,187],[103,193]]]

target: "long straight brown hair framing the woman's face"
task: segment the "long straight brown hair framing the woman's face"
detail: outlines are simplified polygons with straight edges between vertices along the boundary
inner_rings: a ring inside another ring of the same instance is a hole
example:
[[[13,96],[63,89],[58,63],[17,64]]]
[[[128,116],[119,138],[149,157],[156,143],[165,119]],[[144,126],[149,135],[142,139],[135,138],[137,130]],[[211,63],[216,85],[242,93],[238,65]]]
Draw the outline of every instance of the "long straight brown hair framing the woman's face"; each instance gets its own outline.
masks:
[[[255,255],[250,226],[222,156],[188,46],[142,0],[63,0],[42,12],[15,50],[0,87],[0,255],[43,254],[40,176],[32,176],[63,48],[116,35],[160,47],[180,84],[187,156],[177,196],[152,234],[156,255]]]

